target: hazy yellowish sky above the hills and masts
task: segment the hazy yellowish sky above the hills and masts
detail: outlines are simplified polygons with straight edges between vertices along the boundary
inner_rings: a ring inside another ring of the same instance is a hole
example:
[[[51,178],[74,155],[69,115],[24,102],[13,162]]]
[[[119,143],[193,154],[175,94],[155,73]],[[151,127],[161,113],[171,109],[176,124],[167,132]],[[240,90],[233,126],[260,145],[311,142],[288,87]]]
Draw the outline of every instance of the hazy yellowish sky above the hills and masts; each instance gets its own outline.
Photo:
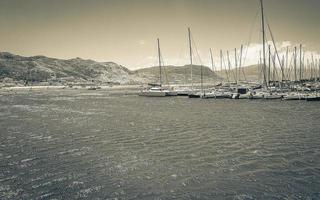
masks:
[[[264,0],[264,7],[277,46],[320,51],[319,0]],[[241,44],[250,44],[250,64],[261,49],[259,11],[259,0],[0,0],[0,51],[137,69],[157,64],[159,38],[164,63],[184,65],[190,27],[196,64],[210,65],[209,48],[217,64],[220,49],[232,54]]]

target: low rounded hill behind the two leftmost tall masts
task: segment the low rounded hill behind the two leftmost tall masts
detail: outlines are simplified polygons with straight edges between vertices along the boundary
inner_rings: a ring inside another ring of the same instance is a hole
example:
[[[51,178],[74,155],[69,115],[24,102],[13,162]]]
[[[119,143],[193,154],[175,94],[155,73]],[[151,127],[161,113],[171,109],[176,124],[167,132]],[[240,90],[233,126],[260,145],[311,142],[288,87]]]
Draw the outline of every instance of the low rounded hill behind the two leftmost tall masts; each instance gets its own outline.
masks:
[[[191,66],[164,66],[162,68],[162,81],[169,84],[185,84],[191,83]],[[201,81],[201,66],[193,65],[193,82],[200,83]],[[211,71],[208,67],[202,68],[203,81],[206,83],[216,82],[221,78]],[[159,67],[149,67],[138,69],[134,71],[136,77],[143,80],[143,82],[155,83],[159,81]]]

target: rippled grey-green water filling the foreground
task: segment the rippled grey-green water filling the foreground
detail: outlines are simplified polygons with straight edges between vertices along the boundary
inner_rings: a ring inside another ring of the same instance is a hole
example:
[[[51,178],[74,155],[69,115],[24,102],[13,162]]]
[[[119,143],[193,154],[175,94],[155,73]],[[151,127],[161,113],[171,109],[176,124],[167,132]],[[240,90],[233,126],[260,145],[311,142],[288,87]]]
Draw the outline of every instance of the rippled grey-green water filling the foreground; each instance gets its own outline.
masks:
[[[0,199],[320,199],[320,103],[0,94]]]

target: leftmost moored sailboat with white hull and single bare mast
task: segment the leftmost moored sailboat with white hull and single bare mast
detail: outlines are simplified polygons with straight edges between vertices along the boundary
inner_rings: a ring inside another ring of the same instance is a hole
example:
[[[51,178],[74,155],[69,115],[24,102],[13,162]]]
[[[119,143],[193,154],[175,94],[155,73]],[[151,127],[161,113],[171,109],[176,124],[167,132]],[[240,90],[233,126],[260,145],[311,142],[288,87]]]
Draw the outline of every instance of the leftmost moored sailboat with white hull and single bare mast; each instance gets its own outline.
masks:
[[[160,41],[157,39],[158,44],[158,58],[159,58],[159,84],[151,84],[151,88],[144,89],[140,91],[139,96],[146,97],[165,97],[170,96],[170,91],[162,87],[162,69],[161,69],[161,51],[160,51]]]

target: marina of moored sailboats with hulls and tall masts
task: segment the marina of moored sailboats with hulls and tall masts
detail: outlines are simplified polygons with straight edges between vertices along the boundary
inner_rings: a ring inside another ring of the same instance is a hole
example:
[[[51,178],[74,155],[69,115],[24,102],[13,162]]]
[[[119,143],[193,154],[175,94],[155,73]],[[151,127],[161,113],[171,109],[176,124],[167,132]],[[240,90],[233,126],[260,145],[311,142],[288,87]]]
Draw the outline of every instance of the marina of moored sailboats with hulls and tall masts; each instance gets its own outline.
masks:
[[[285,55],[282,55],[282,60],[280,60],[280,53],[275,44],[274,35],[270,28],[270,24],[267,23],[266,28],[266,20],[265,20],[265,10],[263,0],[259,0],[260,2],[260,14],[261,14],[261,30],[262,30],[262,53],[260,51],[260,60],[259,60],[259,69],[261,75],[261,82],[253,82],[251,85],[248,82],[243,81],[243,84],[240,85],[240,77],[241,77],[241,67],[245,58],[243,58],[243,45],[241,45],[240,53],[237,49],[234,50],[235,53],[235,61],[234,61],[234,70],[231,71],[231,61],[229,56],[229,51],[227,51],[227,60],[228,60],[228,68],[227,70],[225,66],[225,58],[223,57],[223,51],[220,50],[220,65],[222,72],[223,67],[225,68],[225,72],[227,74],[227,80],[222,80],[219,83],[219,87],[216,85],[209,85],[208,88],[204,88],[203,83],[203,66],[201,63],[200,66],[200,84],[198,87],[195,87],[194,79],[193,79],[193,62],[194,62],[194,54],[198,56],[198,59],[201,62],[201,58],[199,57],[199,53],[197,49],[194,49],[194,38],[191,35],[191,29],[188,28],[188,48],[189,48],[189,58],[190,58],[190,85],[189,87],[184,87],[184,90],[181,88],[177,88],[177,91],[172,90],[171,92],[174,94],[173,96],[188,96],[189,98],[202,98],[202,99],[219,99],[219,98],[231,98],[231,99],[282,99],[282,100],[308,100],[308,101],[319,101],[320,91],[320,58],[314,58],[313,54],[311,55],[311,63],[309,63],[309,58],[307,58],[307,65],[305,64],[305,55],[303,53],[302,44],[299,48],[299,56],[297,47],[294,47],[293,55],[291,56],[291,60],[289,60],[288,53],[289,48],[287,47],[287,51]],[[267,32],[269,31],[270,40],[267,40]],[[162,78],[162,66],[161,66],[161,52],[160,52],[160,44],[159,39],[157,39],[158,44],[158,60],[159,60],[159,88],[149,88],[149,91],[143,90],[141,91],[141,96],[148,96],[146,94],[150,94],[155,92],[159,94],[159,96],[172,96],[168,95],[169,91],[162,91],[161,87],[163,85]],[[274,48],[274,52],[272,52],[272,47]],[[268,49],[268,50],[267,50]],[[238,55],[239,54],[239,55]],[[261,57],[262,54],[262,57]],[[268,55],[267,55],[268,54]],[[267,58],[268,57],[268,58]],[[213,69],[213,57],[212,50],[210,48],[210,58],[211,58],[211,66]],[[285,59],[286,58],[286,59]],[[298,59],[300,61],[299,69],[298,69]],[[278,66],[277,66],[277,61]],[[238,63],[239,62],[239,63]],[[290,64],[288,64],[290,62]],[[273,67],[272,67],[273,65]],[[244,72],[242,71],[243,76],[245,77]],[[278,74],[278,77],[276,77]],[[281,75],[280,75],[281,74]],[[299,76],[298,76],[299,74]],[[231,77],[234,77],[234,82],[231,82]],[[227,82],[226,82],[227,81]],[[199,87],[200,85],[200,87]],[[223,86],[223,87],[221,87]],[[170,87],[170,86],[168,86]],[[173,87],[171,87],[173,88]],[[240,90],[239,90],[240,88]],[[241,90],[242,89],[242,90]],[[160,92],[161,91],[161,92]],[[167,94],[167,95],[166,95]],[[152,95],[150,96],[157,96]]]

